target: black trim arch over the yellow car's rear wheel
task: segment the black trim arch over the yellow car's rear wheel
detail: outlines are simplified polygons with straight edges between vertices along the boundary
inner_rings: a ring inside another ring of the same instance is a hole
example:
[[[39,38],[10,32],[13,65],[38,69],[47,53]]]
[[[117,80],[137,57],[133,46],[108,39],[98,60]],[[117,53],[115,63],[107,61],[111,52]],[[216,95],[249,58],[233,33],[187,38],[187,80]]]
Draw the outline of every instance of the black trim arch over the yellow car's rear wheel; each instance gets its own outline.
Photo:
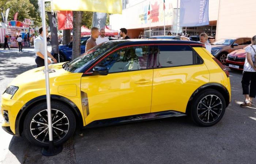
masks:
[[[230,94],[229,94],[229,91],[226,89],[226,87],[219,84],[219,83],[207,83],[207,84],[204,84],[204,85],[200,86],[199,88],[197,88],[193,92],[193,94],[191,95],[191,97],[189,98],[188,103],[187,103],[186,114],[190,113],[190,109],[191,109],[190,107],[192,105],[193,99],[198,94],[200,94],[202,91],[204,91],[206,89],[214,89],[214,90],[219,91],[223,95],[223,97],[225,98],[226,108],[227,108],[227,106],[229,105]]]

